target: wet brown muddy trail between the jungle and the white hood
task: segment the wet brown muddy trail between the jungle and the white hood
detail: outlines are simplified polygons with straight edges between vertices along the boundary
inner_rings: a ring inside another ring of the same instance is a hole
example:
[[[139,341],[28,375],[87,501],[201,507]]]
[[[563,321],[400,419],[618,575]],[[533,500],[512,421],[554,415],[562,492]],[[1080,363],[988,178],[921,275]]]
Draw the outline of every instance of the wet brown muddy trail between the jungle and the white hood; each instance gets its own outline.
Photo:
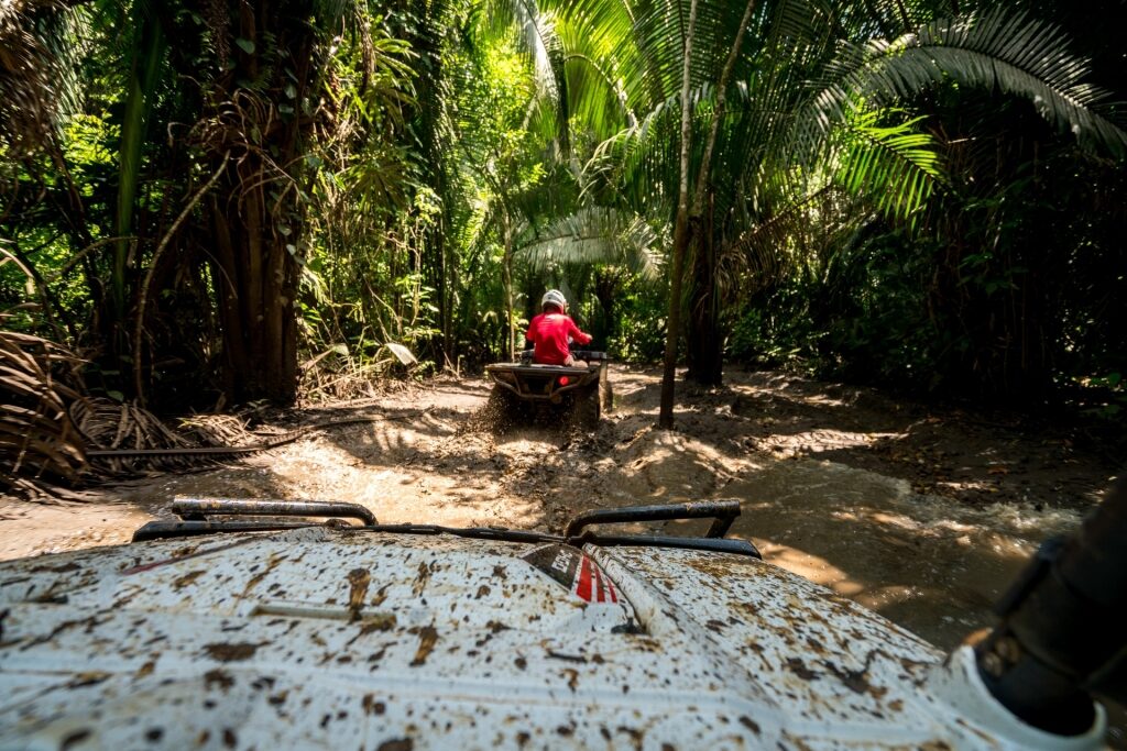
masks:
[[[678,386],[677,430],[663,432],[658,373],[614,367],[612,382],[615,410],[588,435],[480,424],[481,379],[305,410],[307,423],[371,422],[83,504],[0,499],[0,558],[125,543],[177,495],[353,501],[382,522],[552,531],[591,508],[731,498],[743,516],[730,534],[767,561],[950,647],[990,623],[1036,545],[1073,528],[1115,473],[1065,433],[775,373]]]

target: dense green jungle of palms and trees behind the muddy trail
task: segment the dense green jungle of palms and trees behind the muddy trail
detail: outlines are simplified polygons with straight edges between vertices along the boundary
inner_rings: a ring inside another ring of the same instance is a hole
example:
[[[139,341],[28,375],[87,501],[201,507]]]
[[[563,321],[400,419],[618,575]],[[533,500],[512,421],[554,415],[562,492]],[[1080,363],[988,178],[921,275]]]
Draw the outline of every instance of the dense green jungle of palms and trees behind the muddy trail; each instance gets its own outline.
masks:
[[[665,426],[733,361],[1115,418],[1120,6],[7,2],[5,445],[472,370],[548,287]]]

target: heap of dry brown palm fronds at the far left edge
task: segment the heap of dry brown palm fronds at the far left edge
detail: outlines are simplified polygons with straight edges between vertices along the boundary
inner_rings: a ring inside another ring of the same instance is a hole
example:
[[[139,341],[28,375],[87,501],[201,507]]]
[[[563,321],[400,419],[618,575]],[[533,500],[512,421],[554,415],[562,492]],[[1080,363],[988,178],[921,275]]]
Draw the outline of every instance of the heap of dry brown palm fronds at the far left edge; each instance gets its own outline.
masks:
[[[86,441],[69,413],[82,397],[59,377],[78,364],[54,342],[0,328],[0,492],[51,497],[44,483],[73,483],[86,470]]]

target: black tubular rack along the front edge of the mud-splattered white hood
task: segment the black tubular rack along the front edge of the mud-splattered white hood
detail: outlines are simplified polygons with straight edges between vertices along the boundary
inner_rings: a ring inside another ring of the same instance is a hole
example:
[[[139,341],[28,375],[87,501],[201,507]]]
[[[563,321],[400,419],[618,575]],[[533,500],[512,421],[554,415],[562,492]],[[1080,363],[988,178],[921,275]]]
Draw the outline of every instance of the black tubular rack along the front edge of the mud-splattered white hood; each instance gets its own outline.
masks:
[[[739,501],[701,501],[698,503],[672,503],[667,506],[639,506],[616,509],[584,511],[568,522],[564,535],[505,529],[503,527],[443,527],[440,525],[381,525],[372,512],[358,503],[337,501],[279,501],[229,498],[178,498],[172,502],[172,513],[180,521],[150,521],[135,533],[133,542],[169,537],[190,537],[220,533],[278,531],[328,525],[349,533],[374,533],[390,535],[453,535],[508,543],[557,543],[582,547],[638,546],[678,547],[713,553],[733,553],[762,558],[758,549],[745,539],[727,539],[724,535],[739,516]],[[220,517],[220,518],[215,518]],[[234,519],[225,517],[236,517]],[[246,519],[246,517],[261,517]],[[277,517],[302,517],[304,520],[277,519]],[[327,518],[328,521],[312,521],[310,517]],[[343,519],[360,520],[352,525]],[[666,521],[675,519],[713,518],[715,521],[704,537],[675,537],[668,535],[602,535],[587,527],[596,524],[621,524],[639,521]]]

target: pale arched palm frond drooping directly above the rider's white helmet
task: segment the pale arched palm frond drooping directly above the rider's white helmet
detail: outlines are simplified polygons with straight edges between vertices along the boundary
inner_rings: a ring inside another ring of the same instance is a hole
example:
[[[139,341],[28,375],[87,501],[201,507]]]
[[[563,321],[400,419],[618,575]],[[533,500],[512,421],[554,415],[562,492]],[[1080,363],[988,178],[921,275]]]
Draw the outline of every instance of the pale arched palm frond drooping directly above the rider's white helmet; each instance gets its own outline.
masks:
[[[525,242],[518,253],[536,269],[552,265],[621,263],[647,280],[658,275],[658,236],[640,216],[588,207]]]

